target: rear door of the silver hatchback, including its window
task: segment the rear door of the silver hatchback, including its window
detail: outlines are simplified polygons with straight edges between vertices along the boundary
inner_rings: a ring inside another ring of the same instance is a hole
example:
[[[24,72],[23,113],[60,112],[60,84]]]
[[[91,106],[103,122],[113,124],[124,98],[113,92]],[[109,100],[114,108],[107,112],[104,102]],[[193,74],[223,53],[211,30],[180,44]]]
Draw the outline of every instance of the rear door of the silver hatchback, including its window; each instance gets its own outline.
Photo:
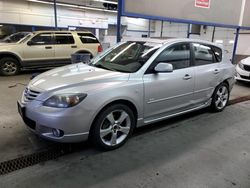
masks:
[[[194,103],[207,102],[220,78],[221,50],[202,43],[193,43],[193,64],[195,67]]]

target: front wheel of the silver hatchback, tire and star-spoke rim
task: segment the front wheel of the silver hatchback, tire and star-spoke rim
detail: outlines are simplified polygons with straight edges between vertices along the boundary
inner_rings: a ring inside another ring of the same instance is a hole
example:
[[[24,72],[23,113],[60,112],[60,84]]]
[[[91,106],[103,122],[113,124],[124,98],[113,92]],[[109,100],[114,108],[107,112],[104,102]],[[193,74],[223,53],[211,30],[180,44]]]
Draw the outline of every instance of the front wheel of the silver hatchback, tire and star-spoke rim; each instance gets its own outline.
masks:
[[[90,141],[101,150],[119,148],[131,136],[135,122],[135,116],[128,106],[109,106],[95,119],[90,131]]]

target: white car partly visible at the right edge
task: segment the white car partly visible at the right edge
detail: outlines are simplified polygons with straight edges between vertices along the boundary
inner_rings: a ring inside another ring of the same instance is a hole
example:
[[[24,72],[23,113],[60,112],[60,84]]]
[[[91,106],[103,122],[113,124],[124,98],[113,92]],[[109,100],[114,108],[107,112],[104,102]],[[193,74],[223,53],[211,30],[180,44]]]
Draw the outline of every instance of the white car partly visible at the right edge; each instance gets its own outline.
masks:
[[[241,60],[236,65],[236,80],[250,82],[250,57]]]

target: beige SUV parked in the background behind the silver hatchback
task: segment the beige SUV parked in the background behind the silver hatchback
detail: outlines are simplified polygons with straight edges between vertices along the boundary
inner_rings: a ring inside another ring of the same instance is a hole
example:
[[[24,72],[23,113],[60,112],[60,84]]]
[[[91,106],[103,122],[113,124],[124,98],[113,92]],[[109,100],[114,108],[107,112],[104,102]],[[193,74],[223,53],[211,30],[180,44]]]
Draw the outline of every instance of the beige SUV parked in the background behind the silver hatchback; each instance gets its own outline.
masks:
[[[16,75],[22,68],[48,68],[69,64],[71,54],[91,57],[102,51],[98,39],[83,31],[37,31],[17,43],[0,45],[0,74]]]

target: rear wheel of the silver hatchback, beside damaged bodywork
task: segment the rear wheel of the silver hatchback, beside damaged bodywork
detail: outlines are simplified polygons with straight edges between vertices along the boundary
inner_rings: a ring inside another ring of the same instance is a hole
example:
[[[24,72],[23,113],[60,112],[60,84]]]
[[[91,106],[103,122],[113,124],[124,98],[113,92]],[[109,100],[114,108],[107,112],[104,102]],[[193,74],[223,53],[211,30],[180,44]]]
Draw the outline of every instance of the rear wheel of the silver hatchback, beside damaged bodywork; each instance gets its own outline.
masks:
[[[212,103],[211,103],[211,109],[214,112],[221,112],[223,111],[229,101],[229,88],[226,83],[221,83],[218,85],[215,90],[212,97]]]

